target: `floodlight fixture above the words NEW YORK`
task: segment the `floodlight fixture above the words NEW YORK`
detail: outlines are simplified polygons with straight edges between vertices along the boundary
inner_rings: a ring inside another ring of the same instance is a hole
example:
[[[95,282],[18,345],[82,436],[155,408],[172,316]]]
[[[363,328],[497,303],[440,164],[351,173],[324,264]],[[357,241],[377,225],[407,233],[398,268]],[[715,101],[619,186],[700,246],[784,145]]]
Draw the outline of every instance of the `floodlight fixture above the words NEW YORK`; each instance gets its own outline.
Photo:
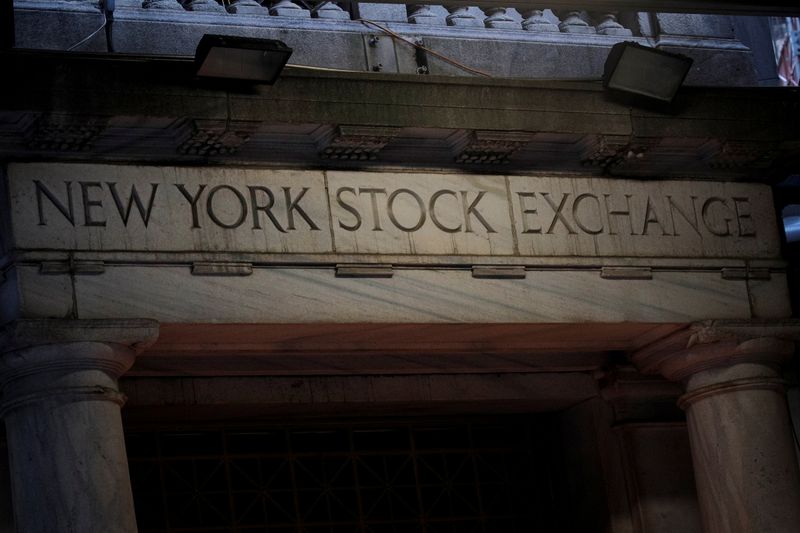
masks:
[[[275,39],[206,34],[194,61],[201,78],[272,85],[291,55],[292,49]]]

